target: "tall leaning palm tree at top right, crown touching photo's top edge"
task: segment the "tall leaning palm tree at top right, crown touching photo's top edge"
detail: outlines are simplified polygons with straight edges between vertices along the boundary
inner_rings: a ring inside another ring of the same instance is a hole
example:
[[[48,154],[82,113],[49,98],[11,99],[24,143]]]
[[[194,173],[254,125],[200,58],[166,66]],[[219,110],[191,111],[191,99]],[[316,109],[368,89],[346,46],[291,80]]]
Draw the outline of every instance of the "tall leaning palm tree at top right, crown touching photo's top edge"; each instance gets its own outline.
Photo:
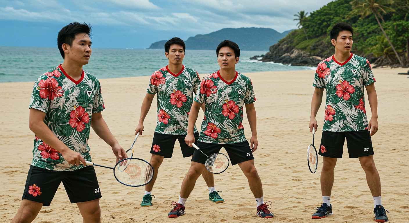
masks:
[[[391,41],[389,40],[387,34],[385,33],[385,30],[383,29],[381,23],[379,22],[380,17],[382,19],[382,22],[385,22],[384,19],[382,18],[382,15],[380,14],[379,11],[382,11],[383,13],[387,13],[390,11],[395,11],[392,8],[386,7],[384,5],[386,4],[392,4],[393,0],[353,0],[350,2],[352,5],[352,11],[350,13],[350,16],[352,15],[361,15],[362,19],[365,18],[366,16],[370,15],[371,13],[375,16],[376,21],[378,22],[379,27],[382,30],[382,33],[384,34],[385,38],[389,42],[389,45],[391,45],[393,52],[395,52],[396,57],[398,58],[398,61],[402,67],[404,66],[402,63],[402,60],[400,59],[398,52],[396,52],[395,47],[393,47]]]

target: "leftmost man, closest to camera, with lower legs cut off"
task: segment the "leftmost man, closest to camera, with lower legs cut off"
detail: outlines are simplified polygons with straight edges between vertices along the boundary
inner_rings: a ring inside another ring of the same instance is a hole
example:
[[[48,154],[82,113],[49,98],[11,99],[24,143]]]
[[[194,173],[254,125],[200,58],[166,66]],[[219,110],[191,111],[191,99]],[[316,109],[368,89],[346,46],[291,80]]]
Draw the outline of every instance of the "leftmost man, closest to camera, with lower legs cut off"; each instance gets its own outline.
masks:
[[[112,147],[117,162],[126,152],[102,118],[104,110],[97,78],[82,70],[91,56],[91,27],[70,23],[58,33],[64,62],[41,75],[30,101],[30,129],[36,134],[33,161],[22,202],[12,223],[31,222],[42,206],[49,206],[61,181],[71,203],[76,203],[87,223],[99,223],[99,190],[91,161],[90,127]]]

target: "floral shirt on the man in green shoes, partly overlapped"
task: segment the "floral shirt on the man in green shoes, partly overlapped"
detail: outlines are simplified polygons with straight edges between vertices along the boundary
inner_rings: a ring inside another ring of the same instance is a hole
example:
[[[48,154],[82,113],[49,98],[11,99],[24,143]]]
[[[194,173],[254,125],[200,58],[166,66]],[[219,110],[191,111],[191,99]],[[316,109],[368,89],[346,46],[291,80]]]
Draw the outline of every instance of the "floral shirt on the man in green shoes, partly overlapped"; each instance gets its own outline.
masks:
[[[183,65],[178,74],[168,66],[151,76],[149,94],[157,94],[157,124],[155,132],[168,135],[186,135],[193,97],[200,85],[196,70]],[[196,132],[196,126],[194,131]]]

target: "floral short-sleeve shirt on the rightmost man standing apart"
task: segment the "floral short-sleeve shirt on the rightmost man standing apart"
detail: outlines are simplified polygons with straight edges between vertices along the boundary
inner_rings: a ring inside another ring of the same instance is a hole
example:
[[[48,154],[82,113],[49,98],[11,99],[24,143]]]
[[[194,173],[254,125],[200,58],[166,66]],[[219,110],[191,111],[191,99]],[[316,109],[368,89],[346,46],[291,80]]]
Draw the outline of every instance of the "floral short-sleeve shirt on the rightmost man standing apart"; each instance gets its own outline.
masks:
[[[371,65],[363,57],[351,53],[349,59],[342,64],[333,56],[321,61],[312,86],[326,90],[323,131],[368,129],[364,86],[374,82]]]

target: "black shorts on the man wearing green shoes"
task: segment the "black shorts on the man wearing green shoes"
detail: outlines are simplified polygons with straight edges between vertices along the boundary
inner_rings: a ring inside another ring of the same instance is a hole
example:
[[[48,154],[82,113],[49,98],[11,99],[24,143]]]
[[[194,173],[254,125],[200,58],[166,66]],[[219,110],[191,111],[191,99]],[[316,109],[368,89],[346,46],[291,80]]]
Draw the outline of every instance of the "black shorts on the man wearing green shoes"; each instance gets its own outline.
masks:
[[[197,142],[199,133],[196,132],[193,133],[193,135]],[[186,137],[186,135],[169,135],[155,132],[155,134],[153,134],[151,153],[162,155],[165,158],[172,158],[173,148],[175,147],[176,139],[178,139],[183,157],[189,157],[193,155],[195,148],[188,146],[186,142],[184,142],[184,137]]]

